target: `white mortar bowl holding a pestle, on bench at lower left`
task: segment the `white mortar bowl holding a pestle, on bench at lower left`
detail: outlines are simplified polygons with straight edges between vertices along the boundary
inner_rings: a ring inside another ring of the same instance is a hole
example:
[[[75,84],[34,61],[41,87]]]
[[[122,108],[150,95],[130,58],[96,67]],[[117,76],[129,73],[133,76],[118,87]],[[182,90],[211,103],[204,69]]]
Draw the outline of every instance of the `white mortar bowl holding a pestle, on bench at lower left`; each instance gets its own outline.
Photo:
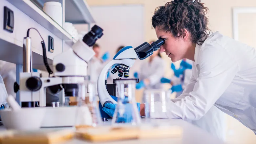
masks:
[[[45,116],[45,108],[21,108],[0,110],[1,119],[6,129],[38,130]]]

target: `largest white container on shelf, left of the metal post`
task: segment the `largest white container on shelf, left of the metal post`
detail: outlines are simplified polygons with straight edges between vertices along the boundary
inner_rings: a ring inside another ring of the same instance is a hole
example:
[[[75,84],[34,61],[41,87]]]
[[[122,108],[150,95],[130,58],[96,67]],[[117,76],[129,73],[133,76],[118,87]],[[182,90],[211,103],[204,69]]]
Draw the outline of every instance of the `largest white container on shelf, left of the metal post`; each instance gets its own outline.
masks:
[[[62,7],[59,2],[44,3],[44,12],[62,27]]]

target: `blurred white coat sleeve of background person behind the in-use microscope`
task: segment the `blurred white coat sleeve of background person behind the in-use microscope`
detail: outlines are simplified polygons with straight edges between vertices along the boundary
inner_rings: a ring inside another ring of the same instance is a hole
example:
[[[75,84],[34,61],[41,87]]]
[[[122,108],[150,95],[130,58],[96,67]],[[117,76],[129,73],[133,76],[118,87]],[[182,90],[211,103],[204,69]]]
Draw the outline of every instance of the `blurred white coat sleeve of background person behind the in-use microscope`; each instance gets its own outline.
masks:
[[[155,73],[148,77],[150,85],[160,83],[161,78],[164,75],[164,62],[160,62],[155,69]]]

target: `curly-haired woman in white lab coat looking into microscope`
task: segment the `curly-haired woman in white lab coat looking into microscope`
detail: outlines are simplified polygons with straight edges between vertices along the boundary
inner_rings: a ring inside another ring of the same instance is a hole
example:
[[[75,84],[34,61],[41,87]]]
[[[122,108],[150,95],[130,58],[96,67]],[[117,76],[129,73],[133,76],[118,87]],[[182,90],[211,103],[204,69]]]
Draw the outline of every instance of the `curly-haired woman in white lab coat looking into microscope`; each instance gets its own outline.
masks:
[[[200,0],[173,0],[152,17],[158,38],[165,39],[160,52],[173,62],[194,61],[190,82],[168,104],[168,117],[197,120],[215,105],[256,133],[255,49],[219,32],[208,35],[207,11]]]

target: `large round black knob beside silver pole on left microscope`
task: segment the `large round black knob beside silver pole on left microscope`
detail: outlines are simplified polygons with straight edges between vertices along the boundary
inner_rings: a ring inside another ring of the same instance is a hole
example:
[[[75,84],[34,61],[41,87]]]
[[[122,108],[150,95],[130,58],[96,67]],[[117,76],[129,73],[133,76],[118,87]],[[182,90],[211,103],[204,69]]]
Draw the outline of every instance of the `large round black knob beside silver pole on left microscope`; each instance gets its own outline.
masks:
[[[26,86],[31,91],[38,91],[42,87],[42,81],[39,77],[30,77],[26,81]]]

